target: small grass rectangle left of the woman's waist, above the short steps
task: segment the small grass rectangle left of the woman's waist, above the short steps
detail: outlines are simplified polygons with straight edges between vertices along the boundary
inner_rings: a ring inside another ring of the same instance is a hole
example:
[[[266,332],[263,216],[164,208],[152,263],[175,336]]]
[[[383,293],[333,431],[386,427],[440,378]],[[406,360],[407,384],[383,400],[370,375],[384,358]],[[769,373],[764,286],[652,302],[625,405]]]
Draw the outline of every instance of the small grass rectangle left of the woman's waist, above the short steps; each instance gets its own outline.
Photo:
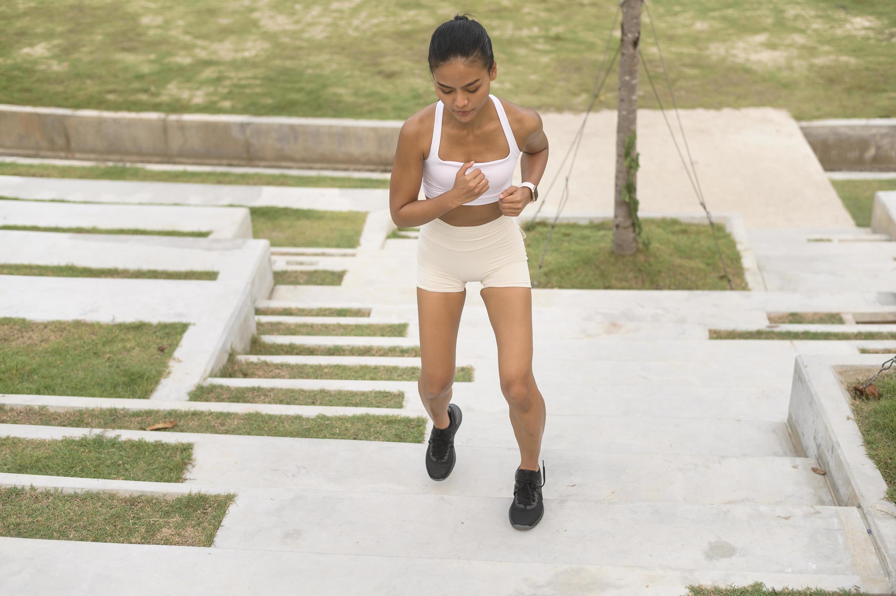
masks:
[[[290,207],[250,207],[249,211],[253,236],[267,238],[271,246],[355,248],[367,220],[366,212]]]

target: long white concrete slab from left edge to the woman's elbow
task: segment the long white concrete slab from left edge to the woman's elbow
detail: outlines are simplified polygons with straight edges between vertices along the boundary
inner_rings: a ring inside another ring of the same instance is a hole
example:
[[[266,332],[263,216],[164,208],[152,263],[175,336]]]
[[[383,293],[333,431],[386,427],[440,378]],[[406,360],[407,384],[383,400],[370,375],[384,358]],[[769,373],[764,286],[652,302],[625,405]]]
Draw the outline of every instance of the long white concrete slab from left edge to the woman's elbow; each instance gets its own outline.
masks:
[[[210,185],[0,176],[0,196],[75,203],[241,205],[369,212],[389,207],[384,188]]]

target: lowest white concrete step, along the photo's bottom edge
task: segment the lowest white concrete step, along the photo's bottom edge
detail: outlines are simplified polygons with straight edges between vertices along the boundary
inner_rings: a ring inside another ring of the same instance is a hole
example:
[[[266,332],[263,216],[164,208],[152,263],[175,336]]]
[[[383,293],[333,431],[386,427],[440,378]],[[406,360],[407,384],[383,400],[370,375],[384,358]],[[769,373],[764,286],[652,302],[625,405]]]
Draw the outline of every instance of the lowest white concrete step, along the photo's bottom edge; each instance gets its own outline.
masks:
[[[514,540],[521,538],[515,536]],[[199,574],[204,592],[234,596],[291,596],[296,586],[320,596],[418,596],[421,592],[431,596],[681,596],[689,584],[744,586],[756,581],[779,589],[837,590],[857,585],[872,596],[892,592],[882,574],[770,574],[711,568],[453,560],[438,556],[438,548],[430,550],[432,554],[426,556],[383,557],[0,538],[0,587],[10,594],[119,596],[126,585],[133,596],[157,596],[157,583],[134,582],[134,577],[164,577],[166,594],[194,596]],[[439,576],[451,577],[452,581],[432,581]]]

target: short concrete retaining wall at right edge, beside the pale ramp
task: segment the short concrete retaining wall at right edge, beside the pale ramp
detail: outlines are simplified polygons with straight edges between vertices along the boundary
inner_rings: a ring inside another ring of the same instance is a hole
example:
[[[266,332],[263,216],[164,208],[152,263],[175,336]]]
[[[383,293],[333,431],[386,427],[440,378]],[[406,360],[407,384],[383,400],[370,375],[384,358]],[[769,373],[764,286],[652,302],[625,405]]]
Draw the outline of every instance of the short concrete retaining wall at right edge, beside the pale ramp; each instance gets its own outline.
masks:
[[[896,118],[799,123],[828,171],[896,171]]]

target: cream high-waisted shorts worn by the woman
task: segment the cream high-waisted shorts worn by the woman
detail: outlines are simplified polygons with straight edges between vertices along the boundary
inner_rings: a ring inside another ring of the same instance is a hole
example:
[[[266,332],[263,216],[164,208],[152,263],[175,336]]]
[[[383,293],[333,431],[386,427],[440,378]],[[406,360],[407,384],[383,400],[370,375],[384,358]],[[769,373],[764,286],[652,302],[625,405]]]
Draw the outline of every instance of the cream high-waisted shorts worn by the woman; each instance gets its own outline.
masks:
[[[462,292],[467,281],[479,281],[484,288],[531,288],[523,238],[526,233],[506,215],[481,226],[426,222],[417,243],[417,287]]]

